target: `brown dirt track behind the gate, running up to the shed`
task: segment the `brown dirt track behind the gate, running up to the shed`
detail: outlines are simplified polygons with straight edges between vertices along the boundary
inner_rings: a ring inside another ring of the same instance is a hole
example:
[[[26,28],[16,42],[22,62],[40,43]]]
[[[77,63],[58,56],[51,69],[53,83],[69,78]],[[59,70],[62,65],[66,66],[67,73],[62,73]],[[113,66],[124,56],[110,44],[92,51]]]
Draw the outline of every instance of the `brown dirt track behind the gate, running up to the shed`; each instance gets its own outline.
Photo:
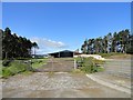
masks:
[[[48,63],[38,69],[40,72],[71,72],[74,68],[73,58],[51,58]]]

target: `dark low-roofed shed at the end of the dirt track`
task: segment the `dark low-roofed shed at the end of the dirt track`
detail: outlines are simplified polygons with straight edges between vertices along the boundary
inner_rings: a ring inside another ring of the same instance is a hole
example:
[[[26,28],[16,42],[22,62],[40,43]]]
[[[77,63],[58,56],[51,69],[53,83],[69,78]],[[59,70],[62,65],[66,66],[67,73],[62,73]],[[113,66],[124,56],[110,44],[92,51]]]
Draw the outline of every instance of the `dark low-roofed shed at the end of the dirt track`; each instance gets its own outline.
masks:
[[[52,56],[54,58],[73,58],[74,52],[70,50],[63,50],[59,52],[49,53],[49,56]]]

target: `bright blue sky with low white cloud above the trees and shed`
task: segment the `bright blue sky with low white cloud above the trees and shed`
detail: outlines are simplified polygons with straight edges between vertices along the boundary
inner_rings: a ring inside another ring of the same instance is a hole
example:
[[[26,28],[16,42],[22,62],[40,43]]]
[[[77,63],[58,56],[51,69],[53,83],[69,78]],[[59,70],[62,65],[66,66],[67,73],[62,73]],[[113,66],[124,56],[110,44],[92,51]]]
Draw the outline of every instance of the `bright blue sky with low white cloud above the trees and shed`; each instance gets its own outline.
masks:
[[[131,29],[130,2],[3,2],[2,29],[39,44],[37,53],[81,49],[85,39]]]

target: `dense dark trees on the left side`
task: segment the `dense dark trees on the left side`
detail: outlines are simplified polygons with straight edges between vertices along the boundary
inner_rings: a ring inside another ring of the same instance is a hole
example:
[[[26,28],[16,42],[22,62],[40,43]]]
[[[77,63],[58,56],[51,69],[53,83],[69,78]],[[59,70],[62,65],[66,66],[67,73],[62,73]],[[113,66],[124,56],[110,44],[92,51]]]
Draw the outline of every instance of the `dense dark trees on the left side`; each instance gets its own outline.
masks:
[[[17,33],[11,33],[9,28],[4,30],[0,29],[2,34],[2,59],[10,58],[30,58],[31,49],[38,48],[37,42],[31,42],[25,37],[17,36]]]

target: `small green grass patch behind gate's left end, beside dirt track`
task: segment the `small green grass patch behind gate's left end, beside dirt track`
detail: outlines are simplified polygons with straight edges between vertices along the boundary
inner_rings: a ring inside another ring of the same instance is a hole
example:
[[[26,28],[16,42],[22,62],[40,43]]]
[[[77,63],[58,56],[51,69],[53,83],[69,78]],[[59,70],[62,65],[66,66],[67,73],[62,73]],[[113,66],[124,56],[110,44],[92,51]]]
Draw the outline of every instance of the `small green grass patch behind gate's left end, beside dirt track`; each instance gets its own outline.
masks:
[[[38,69],[41,68],[43,64],[47,64],[47,58],[44,59],[32,59],[32,68]]]

